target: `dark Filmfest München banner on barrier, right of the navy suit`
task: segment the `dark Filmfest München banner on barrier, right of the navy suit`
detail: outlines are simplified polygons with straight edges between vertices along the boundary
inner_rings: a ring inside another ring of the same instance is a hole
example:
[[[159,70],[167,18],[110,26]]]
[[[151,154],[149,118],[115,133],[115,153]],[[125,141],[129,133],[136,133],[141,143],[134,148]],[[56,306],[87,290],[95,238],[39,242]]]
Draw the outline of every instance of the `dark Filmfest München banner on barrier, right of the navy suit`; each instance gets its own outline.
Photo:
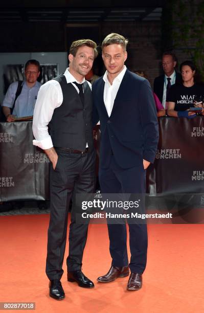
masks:
[[[202,116],[159,119],[160,140],[152,167],[157,194],[204,193],[203,120]]]

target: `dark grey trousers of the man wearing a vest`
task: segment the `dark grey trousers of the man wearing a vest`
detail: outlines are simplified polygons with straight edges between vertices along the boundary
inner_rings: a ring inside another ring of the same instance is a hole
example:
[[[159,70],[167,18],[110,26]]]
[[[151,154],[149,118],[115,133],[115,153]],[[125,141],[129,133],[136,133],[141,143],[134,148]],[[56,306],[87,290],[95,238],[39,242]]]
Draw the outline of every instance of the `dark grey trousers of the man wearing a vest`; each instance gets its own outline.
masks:
[[[51,165],[50,172],[51,206],[46,261],[46,274],[50,280],[61,279],[63,274],[70,199],[73,193],[93,193],[95,185],[95,151],[84,154],[63,151],[60,148],[56,148],[56,151],[57,165],[55,170]],[[88,230],[88,223],[76,223],[76,211],[74,201],[69,233],[69,256],[66,260],[69,272],[81,269]]]

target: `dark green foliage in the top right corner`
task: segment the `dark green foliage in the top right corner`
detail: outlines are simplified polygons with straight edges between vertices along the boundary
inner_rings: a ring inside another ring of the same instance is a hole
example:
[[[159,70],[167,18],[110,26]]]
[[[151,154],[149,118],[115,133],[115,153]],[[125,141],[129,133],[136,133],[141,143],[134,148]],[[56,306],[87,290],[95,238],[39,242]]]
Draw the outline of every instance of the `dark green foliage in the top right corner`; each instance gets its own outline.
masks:
[[[165,14],[171,13],[169,21],[163,23],[164,32],[170,29],[171,48],[183,49],[194,61],[204,80],[203,0],[170,0],[166,10]]]

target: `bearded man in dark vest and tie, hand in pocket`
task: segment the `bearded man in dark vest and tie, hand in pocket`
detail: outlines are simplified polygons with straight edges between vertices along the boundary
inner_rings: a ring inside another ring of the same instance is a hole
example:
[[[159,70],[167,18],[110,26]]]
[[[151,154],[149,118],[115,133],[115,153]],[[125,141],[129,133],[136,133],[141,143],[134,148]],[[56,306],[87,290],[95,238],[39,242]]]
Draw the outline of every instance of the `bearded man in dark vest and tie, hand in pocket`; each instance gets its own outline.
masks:
[[[62,300],[60,282],[66,245],[67,216],[74,193],[93,193],[95,151],[92,131],[92,91],[84,76],[97,56],[96,43],[89,39],[74,41],[70,48],[70,68],[42,85],[33,117],[34,145],[48,155],[50,173],[50,225],[46,274],[50,297]],[[49,132],[48,132],[49,128]],[[69,233],[67,280],[92,288],[94,283],[81,272],[88,224],[77,223],[73,205]]]

